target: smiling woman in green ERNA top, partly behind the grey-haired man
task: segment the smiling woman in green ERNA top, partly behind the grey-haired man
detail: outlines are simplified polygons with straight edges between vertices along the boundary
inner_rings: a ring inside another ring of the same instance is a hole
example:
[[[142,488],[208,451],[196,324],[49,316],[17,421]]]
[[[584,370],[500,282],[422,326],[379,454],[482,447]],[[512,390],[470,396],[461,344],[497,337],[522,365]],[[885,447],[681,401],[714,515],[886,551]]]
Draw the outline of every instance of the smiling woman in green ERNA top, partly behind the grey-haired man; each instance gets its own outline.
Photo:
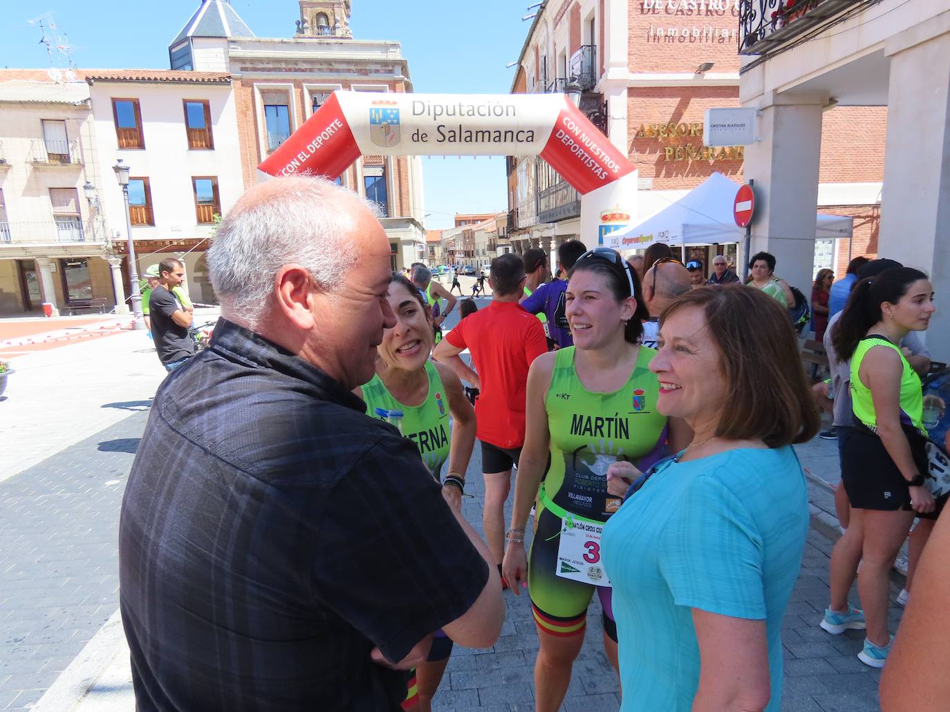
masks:
[[[458,511],[475,443],[475,411],[451,368],[428,358],[432,322],[419,290],[393,272],[389,299],[396,325],[386,329],[377,347],[376,375],[356,389],[356,395],[366,401],[368,415],[393,423],[415,443],[432,477],[444,482],[443,496]],[[451,428],[449,414],[455,421]],[[446,460],[448,473],[442,478]],[[416,668],[415,684],[409,681],[405,709],[431,709],[451,651],[452,641],[437,632],[428,662]]]

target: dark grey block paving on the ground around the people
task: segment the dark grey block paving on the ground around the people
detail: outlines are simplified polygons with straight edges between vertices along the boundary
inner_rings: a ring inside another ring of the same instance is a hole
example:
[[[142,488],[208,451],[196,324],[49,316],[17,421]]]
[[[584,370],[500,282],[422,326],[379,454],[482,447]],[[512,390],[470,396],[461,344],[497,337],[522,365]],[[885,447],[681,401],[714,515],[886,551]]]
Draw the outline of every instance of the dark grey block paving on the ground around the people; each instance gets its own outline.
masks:
[[[486,301],[480,300],[480,308]],[[454,321],[454,320],[453,320]],[[137,407],[147,408],[147,401]],[[26,710],[53,684],[118,608],[116,558],[123,483],[147,418],[129,415],[0,482],[0,710]],[[799,449],[803,461],[811,443]],[[824,454],[823,454],[824,455]],[[815,456],[818,457],[818,456]],[[478,448],[468,469],[466,517],[481,527],[481,459]],[[816,526],[808,534],[803,568],[786,616],[783,710],[871,712],[879,709],[879,672],[855,657],[863,633],[829,636],[818,627],[828,598],[829,495],[809,485]],[[510,511],[509,511],[510,514]],[[820,526],[819,526],[820,525]],[[892,594],[896,594],[894,587]],[[852,601],[857,602],[856,594]],[[456,646],[436,695],[439,710],[530,710],[534,708],[533,664],[538,637],[526,595],[505,594],[502,637],[487,649]],[[891,610],[896,628],[901,609]],[[600,609],[589,611],[586,640],[574,668],[563,710],[617,710],[616,675],[600,643]],[[127,661],[110,651],[102,668]],[[127,670],[127,662],[124,663]],[[104,677],[91,692],[128,687],[128,673]],[[124,685],[117,684],[122,681]],[[636,694],[629,691],[628,694]],[[132,705],[95,703],[82,709],[132,712]],[[127,700],[127,695],[125,696]],[[78,701],[77,701],[78,702]]]

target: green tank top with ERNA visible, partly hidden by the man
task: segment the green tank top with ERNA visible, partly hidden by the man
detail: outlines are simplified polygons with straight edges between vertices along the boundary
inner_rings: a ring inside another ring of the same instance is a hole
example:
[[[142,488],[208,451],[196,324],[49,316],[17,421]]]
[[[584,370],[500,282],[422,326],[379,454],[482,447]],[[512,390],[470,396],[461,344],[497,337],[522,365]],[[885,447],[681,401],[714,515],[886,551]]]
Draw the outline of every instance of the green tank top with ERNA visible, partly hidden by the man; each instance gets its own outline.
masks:
[[[442,465],[448,459],[448,396],[439,377],[439,372],[426,362],[428,396],[422,405],[399,403],[383,384],[379,374],[362,387],[366,414],[381,421],[392,422],[399,427],[403,437],[409,438],[419,450],[419,455],[436,481],[441,481]],[[392,412],[402,413],[390,415]]]

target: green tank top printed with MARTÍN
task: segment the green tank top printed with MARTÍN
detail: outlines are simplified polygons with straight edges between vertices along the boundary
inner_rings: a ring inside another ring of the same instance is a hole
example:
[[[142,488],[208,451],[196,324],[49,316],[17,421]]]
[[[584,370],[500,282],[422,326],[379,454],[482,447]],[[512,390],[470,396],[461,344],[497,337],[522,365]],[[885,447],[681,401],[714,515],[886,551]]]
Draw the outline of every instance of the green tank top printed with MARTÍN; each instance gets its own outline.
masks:
[[[620,508],[607,492],[611,462],[633,462],[646,472],[663,456],[666,416],[656,410],[659,381],[648,366],[653,348],[639,347],[627,383],[613,393],[593,393],[580,383],[574,348],[557,351],[544,399],[551,441],[551,466],[542,485],[542,504],[603,522]]]

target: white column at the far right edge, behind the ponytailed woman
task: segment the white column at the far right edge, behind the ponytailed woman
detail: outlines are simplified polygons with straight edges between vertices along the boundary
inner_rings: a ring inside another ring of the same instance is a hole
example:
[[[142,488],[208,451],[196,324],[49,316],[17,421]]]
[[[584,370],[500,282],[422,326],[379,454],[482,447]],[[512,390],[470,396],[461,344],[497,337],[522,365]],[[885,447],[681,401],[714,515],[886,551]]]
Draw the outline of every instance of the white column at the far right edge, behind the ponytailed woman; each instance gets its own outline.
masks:
[[[950,288],[950,22],[895,35],[890,56],[887,136],[878,254]],[[942,30],[942,33],[940,33]],[[950,309],[941,305],[926,331],[937,361],[950,358]]]

